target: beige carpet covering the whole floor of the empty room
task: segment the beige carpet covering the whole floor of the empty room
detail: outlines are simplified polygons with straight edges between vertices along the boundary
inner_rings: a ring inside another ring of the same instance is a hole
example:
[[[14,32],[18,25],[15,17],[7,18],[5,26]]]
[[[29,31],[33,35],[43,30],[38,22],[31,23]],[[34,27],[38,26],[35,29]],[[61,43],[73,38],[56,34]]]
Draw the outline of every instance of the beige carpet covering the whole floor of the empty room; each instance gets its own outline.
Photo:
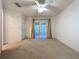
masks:
[[[3,50],[0,59],[79,59],[79,53],[57,40],[24,40]]]

